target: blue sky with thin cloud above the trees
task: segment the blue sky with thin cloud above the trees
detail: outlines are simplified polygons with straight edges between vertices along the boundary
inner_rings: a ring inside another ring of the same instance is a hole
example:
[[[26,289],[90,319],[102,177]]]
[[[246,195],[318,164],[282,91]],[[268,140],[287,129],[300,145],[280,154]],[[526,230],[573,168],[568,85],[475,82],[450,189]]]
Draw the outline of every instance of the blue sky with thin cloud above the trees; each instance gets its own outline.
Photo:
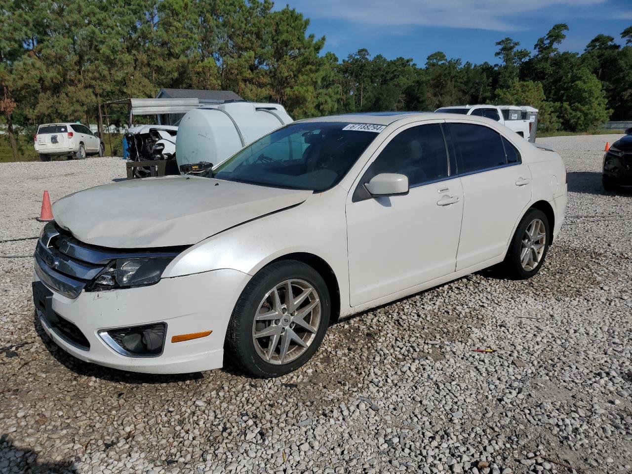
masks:
[[[599,33],[623,44],[632,25],[632,0],[287,0],[310,19],[309,33],[325,35],[324,51],[339,59],[366,47],[372,56],[413,58],[443,51],[463,63],[497,62],[495,42],[504,37],[532,50],[556,23],[569,31],[562,49],[583,51]],[[277,2],[276,8],[286,3]]]

